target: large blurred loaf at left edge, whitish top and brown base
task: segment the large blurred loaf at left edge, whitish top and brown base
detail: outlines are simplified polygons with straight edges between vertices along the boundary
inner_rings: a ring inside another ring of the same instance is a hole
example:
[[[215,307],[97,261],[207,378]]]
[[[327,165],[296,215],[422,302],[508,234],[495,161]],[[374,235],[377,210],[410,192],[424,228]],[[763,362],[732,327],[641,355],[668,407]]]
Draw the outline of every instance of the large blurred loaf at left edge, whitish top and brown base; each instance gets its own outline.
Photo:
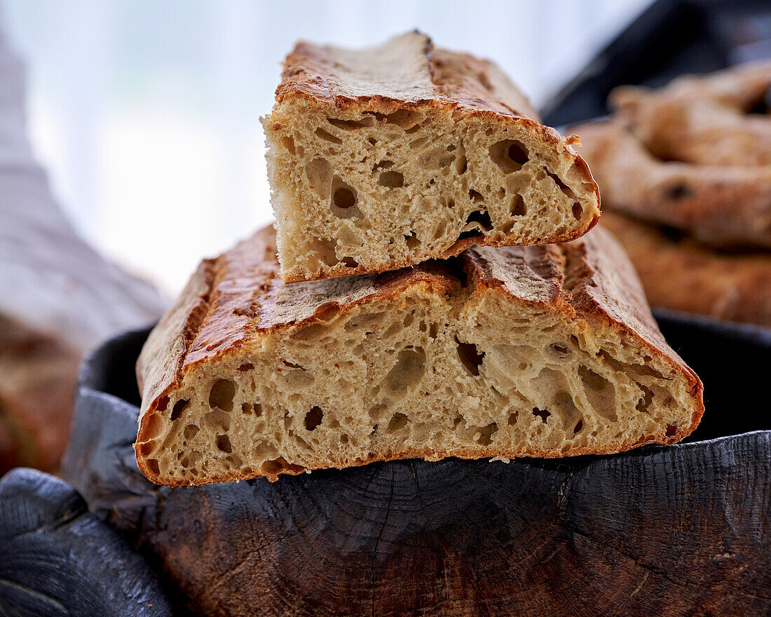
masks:
[[[165,305],[76,233],[32,157],[24,109],[24,70],[0,29],[0,475],[56,470],[80,356]]]

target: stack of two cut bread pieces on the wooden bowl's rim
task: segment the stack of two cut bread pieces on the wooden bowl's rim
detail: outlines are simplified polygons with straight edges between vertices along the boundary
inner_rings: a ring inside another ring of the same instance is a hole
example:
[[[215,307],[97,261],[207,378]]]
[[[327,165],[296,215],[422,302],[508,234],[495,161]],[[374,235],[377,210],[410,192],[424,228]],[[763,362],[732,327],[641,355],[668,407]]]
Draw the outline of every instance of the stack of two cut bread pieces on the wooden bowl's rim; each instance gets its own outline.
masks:
[[[597,184],[493,63],[301,42],[264,119],[276,224],[204,260],[137,373],[183,486],[672,443],[703,412]],[[277,258],[278,251],[278,258]]]

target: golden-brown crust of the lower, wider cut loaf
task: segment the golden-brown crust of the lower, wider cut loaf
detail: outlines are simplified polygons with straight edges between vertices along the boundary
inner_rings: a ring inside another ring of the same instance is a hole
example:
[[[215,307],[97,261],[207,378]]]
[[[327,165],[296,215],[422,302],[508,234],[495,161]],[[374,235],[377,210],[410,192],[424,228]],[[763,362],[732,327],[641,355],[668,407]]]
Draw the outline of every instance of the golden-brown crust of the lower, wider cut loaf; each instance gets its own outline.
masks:
[[[702,384],[695,373],[670,349],[651,317],[631,265],[609,234],[595,230],[591,236],[570,244],[540,247],[510,247],[499,250],[471,248],[461,255],[460,265],[468,276],[471,295],[495,288],[509,302],[540,304],[561,312],[566,319],[605,326],[631,335],[663,357],[691,384],[697,413],[689,426],[677,427],[665,437],[673,443],[692,432],[703,412]],[[332,315],[350,311],[353,305],[372,299],[394,298],[414,285],[425,293],[449,295],[460,287],[459,278],[449,265],[427,263],[415,268],[383,275],[364,275],[327,281],[283,285],[278,279],[274,230],[264,228],[215,260],[204,261],[193,280],[169,314],[153,331],[137,366],[143,389],[138,443],[150,433],[150,416],[163,405],[163,398],[180,386],[183,376],[195,364],[212,362],[248,346],[258,346],[264,336],[278,329],[294,331]],[[463,278],[463,277],[461,277]],[[168,399],[167,399],[168,400]],[[645,436],[629,440],[635,447],[661,437]],[[136,447],[136,446],[135,446]],[[572,450],[571,455],[601,453],[597,447]],[[375,460],[423,457],[438,460],[447,456],[557,457],[558,451],[517,452],[468,447],[453,452],[416,450],[367,460],[340,460],[338,467],[368,464]],[[147,467],[137,448],[140,469],[148,477],[157,474]],[[326,465],[325,465],[326,467]],[[313,467],[285,467],[281,473],[298,474]],[[253,476],[249,476],[253,477]],[[268,474],[269,479],[277,476]],[[194,483],[243,480],[239,471],[217,477],[191,480]],[[169,485],[190,484],[188,480],[169,480]],[[173,484],[177,482],[177,484]]]

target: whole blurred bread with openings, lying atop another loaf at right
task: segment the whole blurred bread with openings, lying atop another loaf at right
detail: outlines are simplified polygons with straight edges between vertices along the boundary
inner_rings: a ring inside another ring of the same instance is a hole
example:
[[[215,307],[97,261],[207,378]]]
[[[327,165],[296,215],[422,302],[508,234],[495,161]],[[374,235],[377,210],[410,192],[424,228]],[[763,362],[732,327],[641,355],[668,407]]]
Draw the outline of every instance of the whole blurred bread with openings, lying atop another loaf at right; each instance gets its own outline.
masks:
[[[771,62],[620,86],[608,122],[572,126],[605,210],[704,243],[771,248]]]

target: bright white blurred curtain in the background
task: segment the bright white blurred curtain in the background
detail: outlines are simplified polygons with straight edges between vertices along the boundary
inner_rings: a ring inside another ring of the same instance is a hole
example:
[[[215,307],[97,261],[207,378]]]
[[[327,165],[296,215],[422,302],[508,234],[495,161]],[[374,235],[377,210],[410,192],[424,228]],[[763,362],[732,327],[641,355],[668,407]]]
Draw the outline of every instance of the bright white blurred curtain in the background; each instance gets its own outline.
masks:
[[[295,39],[418,27],[490,57],[541,103],[649,0],[5,0],[35,151],[76,226],[176,292],[271,217],[258,117]]]

